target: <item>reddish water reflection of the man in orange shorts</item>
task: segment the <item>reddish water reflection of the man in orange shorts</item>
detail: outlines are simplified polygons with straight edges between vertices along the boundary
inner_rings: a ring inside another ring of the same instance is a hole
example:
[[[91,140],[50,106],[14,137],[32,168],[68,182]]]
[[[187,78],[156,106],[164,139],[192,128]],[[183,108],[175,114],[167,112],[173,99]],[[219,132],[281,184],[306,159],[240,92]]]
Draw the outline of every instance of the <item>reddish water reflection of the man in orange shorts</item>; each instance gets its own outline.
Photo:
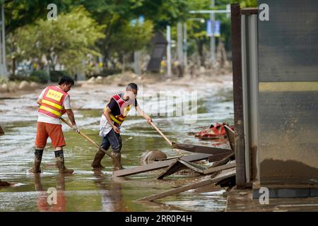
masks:
[[[48,198],[50,200],[52,193],[48,193],[46,188],[44,189],[41,182],[40,174],[34,174],[34,187],[35,191],[39,191],[37,196],[37,209],[40,212],[65,212],[67,199],[64,194],[65,191],[65,175],[59,174],[57,177],[57,199],[56,202],[53,202],[52,205],[49,204]]]

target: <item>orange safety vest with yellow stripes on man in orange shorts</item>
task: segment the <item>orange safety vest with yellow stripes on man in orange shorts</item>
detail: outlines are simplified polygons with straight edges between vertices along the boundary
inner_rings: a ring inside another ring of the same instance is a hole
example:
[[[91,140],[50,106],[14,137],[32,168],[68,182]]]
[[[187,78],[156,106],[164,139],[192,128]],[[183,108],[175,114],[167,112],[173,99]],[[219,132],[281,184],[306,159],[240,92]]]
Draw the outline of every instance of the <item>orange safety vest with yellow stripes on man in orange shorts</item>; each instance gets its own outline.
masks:
[[[68,94],[56,86],[48,86],[42,98],[39,112],[49,117],[59,118],[63,112],[63,103]]]

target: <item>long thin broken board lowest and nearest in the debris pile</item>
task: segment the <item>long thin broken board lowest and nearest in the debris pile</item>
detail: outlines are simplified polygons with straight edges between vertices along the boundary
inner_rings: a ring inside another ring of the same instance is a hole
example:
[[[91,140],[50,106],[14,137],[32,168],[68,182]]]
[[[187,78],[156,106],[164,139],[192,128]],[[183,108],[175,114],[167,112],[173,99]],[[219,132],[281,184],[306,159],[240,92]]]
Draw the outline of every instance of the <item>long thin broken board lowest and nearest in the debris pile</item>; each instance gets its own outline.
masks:
[[[154,201],[155,199],[159,199],[159,198],[165,198],[167,196],[172,196],[174,194],[178,194],[180,192],[183,192],[183,191],[188,191],[190,189],[196,189],[196,188],[199,188],[200,186],[206,186],[208,184],[214,184],[216,182],[220,182],[222,181],[223,179],[227,179],[229,177],[233,177],[235,176],[235,169],[232,169],[232,170],[226,170],[226,172],[221,172],[220,174],[218,174],[218,176],[212,178],[212,179],[207,179],[207,180],[204,180],[202,182],[196,182],[196,183],[193,183],[193,184],[188,184],[188,185],[185,185],[185,186],[182,186],[182,187],[179,187],[177,189],[171,189],[169,191],[164,191],[160,194],[155,194],[155,195],[152,195],[152,196],[147,196],[147,197],[144,197],[144,198],[140,198],[139,201]]]

